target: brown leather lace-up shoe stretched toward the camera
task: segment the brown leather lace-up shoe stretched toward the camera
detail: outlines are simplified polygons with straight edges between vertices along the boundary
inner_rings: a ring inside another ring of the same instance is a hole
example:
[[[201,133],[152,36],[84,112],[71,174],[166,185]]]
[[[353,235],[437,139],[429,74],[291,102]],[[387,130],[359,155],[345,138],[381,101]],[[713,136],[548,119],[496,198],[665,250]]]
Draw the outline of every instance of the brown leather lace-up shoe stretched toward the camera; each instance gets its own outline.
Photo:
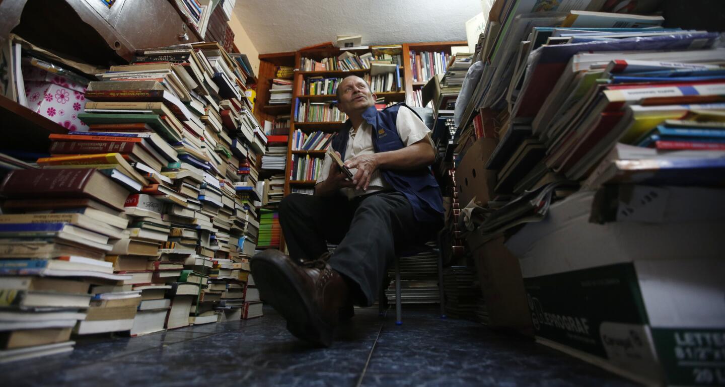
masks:
[[[325,259],[297,265],[278,250],[250,262],[262,300],[287,320],[287,330],[312,344],[330,346],[339,309],[347,304],[347,283]]]

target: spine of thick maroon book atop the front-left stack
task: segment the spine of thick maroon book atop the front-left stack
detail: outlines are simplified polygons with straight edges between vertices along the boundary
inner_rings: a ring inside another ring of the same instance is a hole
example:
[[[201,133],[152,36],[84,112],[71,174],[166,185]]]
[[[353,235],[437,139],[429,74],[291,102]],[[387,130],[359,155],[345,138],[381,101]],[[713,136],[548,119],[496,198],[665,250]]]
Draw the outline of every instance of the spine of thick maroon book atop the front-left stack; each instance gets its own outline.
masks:
[[[0,186],[0,194],[9,198],[18,196],[54,197],[58,194],[82,193],[95,172],[92,168],[68,170],[14,170],[8,173]]]

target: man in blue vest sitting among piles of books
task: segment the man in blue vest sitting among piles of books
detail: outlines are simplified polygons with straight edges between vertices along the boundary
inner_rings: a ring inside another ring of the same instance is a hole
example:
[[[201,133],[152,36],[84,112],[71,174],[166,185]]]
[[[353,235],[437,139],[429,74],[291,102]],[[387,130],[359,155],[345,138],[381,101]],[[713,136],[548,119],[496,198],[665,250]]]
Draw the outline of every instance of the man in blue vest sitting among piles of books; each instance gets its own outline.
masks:
[[[329,346],[352,304],[369,307],[397,249],[429,241],[442,227],[442,197],[430,165],[436,150],[420,117],[405,104],[381,112],[376,95],[351,75],[337,88],[349,117],[331,146],[352,179],[326,155],[315,195],[292,193],[280,204],[291,258],[266,250],[252,259],[262,299],[287,329]],[[327,242],[338,244],[328,253]]]

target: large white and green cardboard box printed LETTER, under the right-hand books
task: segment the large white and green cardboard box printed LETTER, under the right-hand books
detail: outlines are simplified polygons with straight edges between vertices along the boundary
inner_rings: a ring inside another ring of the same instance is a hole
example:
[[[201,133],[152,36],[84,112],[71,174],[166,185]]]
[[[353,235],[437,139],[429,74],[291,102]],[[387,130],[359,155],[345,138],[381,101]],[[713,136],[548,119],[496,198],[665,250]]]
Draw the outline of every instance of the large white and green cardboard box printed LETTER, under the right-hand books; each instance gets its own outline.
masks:
[[[537,341],[640,383],[724,384],[725,223],[600,225],[589,222],[593,199],[552,204],[506,243]]]

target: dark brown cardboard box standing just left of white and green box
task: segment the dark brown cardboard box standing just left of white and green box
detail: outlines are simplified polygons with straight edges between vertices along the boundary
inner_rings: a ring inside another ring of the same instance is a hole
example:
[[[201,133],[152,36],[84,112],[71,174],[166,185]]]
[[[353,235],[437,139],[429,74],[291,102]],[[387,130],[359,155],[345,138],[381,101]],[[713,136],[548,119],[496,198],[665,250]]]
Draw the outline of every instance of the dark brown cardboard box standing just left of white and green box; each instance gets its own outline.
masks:
[[[504,246],[503,237],[488,241],[474,250],[473,259],[489,312],[489,327],[533,336],[521,268],[518,259]]]

